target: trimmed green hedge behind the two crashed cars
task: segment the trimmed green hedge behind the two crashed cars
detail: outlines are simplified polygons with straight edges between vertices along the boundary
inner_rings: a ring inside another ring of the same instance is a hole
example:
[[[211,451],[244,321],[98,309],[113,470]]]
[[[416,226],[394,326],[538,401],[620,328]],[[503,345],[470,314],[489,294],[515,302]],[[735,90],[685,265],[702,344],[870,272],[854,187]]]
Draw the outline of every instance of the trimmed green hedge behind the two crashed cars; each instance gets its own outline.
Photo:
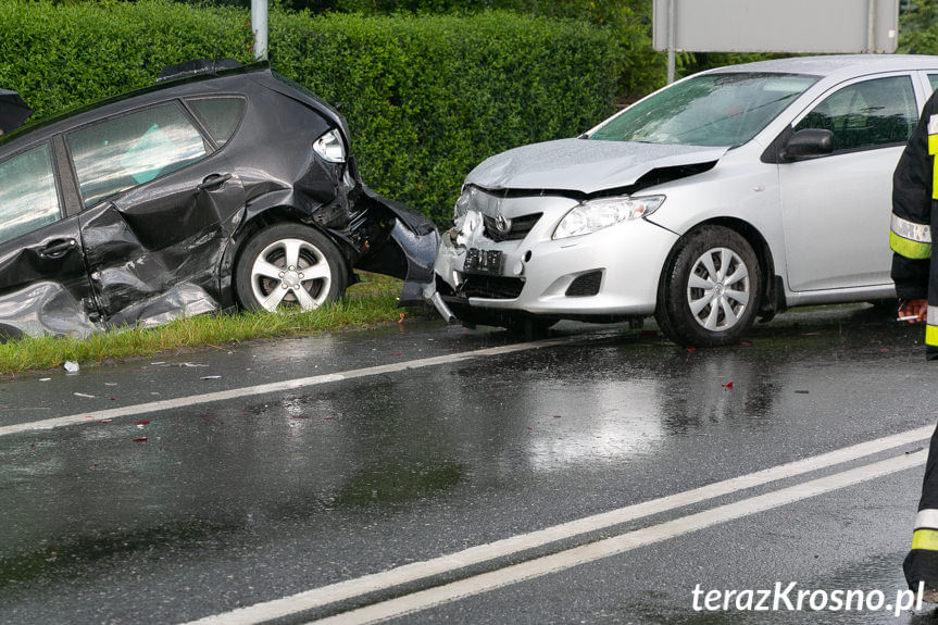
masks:
[[[250,61],[250,16],[162,0],[0,0],[0,87],[39,116],[145,86],[192,58]],[[624,47],[584,22],[488,12],[274,11],[271,62],[341,102],[365,182],[443,224],[483,159],[577,135],[612,112]]]

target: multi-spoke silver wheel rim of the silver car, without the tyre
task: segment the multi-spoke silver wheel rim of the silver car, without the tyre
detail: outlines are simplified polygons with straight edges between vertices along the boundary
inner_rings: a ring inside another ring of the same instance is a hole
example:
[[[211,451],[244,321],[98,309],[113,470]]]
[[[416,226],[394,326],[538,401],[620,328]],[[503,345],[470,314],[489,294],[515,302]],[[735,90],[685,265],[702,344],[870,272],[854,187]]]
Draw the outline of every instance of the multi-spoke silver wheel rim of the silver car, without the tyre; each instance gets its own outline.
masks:
[[[687,280],[687,305],[701,327],[710,332],[731,328],[752,300],[749,270],[728,248],[713,248],[693,262]]]

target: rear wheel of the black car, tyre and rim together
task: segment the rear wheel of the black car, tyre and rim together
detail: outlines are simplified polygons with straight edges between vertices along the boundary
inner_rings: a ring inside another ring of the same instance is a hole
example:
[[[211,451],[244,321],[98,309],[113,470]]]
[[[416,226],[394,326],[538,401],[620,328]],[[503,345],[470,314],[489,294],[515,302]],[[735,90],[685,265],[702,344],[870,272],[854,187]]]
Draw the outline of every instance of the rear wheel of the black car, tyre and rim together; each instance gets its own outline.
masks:
[[[296,260],[288,261],[290,254]],[[259,232],[241,249],[235,293],[249,310],[312,310],[342,297],[347,275],[345,259],[326,235],[283,223]]]

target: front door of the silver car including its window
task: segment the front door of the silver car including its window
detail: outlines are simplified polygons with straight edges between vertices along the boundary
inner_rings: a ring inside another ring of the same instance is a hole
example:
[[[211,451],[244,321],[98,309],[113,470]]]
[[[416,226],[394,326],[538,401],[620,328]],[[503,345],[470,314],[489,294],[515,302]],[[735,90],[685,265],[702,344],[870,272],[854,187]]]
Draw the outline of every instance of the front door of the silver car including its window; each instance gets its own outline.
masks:
[[[892,171],[917,114],[901,74],[840,86],[796,124],[831,130],[834,152],[779,165],[791,290],[889,284]]]

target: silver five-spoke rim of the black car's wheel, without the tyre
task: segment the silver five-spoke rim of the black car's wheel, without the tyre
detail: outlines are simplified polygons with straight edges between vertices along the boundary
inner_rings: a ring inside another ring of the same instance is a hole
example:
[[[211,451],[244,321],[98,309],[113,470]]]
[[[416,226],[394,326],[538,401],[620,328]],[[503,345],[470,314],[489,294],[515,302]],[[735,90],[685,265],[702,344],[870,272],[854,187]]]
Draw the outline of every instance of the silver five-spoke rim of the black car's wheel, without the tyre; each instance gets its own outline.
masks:
[[[326,301],[333,272],[323,252],[303,239],[279,239],[261,250],[251,263],[254,299],[273,312],[283,304],[302,310]]]

